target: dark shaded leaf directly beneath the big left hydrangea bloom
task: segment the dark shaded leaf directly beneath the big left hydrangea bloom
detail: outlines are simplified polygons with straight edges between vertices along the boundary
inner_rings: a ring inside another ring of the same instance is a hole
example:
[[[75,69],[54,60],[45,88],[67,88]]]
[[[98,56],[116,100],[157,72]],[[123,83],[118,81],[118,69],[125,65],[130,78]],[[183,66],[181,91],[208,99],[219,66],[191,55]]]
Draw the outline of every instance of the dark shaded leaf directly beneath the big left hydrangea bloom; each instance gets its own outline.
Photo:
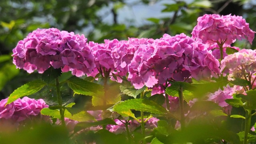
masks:
[[[61,74],[61,68],[55,69],[51,66],[42,74],[42,80],[49,84],[50,82],[52,82],[52,80],[55,80],[55,78],[58,78]]]

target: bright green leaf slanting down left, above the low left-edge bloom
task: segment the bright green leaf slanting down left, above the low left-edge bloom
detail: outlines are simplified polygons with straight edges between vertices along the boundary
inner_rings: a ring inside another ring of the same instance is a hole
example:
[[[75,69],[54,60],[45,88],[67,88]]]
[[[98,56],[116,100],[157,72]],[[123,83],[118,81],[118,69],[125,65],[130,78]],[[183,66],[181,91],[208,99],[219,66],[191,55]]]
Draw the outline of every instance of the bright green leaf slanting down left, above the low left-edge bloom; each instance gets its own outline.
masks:
[[[34,94],[39,90],[41,90],[44,86],[46,86],[46,83],[42,80],[34,80],[32,82],[24,84],[20,88],[17,88],[16,90],[14,90],[12,94],[10,94],[6,105],[10,104],[11,102],[14,102],[15,100],[17,100],[22,96]]]

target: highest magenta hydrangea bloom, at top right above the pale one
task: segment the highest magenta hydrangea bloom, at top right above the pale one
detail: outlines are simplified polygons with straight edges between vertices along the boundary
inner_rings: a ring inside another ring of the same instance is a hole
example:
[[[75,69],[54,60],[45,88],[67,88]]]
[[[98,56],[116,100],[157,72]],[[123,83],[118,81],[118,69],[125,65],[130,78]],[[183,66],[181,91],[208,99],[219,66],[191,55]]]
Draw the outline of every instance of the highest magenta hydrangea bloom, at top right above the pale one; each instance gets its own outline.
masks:
[[[236,39],[246,39],[252,44],[254,39],[255,32],[249,28],[249,24],[242,16],[205,14],[197,21],[198,23],[192,31],[192,38],[200,38],[203,43],[225,42],[230,45]]]

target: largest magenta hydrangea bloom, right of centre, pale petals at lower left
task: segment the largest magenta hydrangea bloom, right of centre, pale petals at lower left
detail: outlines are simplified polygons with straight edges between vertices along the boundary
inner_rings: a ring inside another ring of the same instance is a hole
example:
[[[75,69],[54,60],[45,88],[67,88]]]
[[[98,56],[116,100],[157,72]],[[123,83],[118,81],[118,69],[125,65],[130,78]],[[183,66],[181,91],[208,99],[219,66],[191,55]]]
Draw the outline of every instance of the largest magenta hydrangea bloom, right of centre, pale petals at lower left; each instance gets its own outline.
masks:
[[[153,87],[166,80],[183,81],[190,76],[201,79],[218,77],[219,62],[201,40],[185,34],[164,34],[149,44],[140,44],[128,65],[128,80],[135,88]]]

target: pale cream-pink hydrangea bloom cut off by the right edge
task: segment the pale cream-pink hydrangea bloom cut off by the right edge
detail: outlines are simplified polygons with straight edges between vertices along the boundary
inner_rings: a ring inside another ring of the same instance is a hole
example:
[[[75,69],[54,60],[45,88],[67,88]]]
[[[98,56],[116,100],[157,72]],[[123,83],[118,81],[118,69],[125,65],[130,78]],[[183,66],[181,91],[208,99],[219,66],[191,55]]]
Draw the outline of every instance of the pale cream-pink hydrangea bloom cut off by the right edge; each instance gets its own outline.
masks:
[[[256,50],[243,49],[230,54],[221,61],[220,68],[221,71],[224,68],[229,70],[229,80],[242,78],[253,82],[252,75],[256,72]]]

